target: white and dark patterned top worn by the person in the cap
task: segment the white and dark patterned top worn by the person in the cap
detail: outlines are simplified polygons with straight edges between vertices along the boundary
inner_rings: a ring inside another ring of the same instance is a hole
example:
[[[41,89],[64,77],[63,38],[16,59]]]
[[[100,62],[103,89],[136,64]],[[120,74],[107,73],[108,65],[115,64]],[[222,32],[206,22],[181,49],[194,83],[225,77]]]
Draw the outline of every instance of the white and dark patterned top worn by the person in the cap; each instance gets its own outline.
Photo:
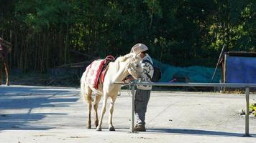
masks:
[[[150,61],[151,64],[148,61]],[[144,58],[140,62],[142,64],[142,68],[143,68],[142,82],[151,82],[150,78],[152,78],[153,74],[154,74],[154,67],[152,66],[153,61],[152,61],[151,57],[148,54],[145,54]],[[152,86],[137,85],[137,89],[151,90]]]

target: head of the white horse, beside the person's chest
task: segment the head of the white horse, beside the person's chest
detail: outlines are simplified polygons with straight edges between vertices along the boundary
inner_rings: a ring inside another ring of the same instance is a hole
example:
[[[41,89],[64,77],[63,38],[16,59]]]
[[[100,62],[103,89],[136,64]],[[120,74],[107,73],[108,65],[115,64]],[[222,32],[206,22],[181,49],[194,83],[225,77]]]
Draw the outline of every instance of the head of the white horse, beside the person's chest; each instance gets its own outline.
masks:
[[[140,57],[140,54],[131,53],[127,71],[134,77],[134,79],[138,79],[142,75],[143,69],[142,64],[140,63],[141,60],[142,58]]]

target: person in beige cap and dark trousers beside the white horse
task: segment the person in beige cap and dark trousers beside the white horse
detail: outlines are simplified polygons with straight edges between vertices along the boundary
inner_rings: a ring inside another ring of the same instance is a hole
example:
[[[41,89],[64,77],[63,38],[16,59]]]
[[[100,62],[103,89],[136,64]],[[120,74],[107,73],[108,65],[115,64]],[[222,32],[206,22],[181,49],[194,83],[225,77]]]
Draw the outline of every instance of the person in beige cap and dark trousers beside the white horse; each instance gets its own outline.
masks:
[[[131,52],[135,54],[140,54],[142,58],[141,64],[143,68],[142,73],[142,82],[151,82],[151,79],[154,74],[154,67],[152,66],[153,62],[149,54],[147,54],[147,46],[145,44],[135,44],[132,47]],[[136,125],[134,127],[135,132],[145,132],[145,115],[147,112],[147,104],[150,100],[150,92],[152,86],[140,85],[137,86],[135,92],[135,117],[137,118]]]

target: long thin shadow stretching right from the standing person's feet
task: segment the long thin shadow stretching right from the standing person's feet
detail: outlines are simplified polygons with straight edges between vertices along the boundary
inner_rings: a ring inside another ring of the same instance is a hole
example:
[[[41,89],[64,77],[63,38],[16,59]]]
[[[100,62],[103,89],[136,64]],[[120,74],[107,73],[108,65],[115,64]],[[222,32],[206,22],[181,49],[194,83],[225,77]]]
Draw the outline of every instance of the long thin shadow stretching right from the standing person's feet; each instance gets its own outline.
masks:
[[[154,134],[193,134],[193,135],[207,135],[207,136],[223,136],[223,137],[244,137],[243,133],[236,132],[219,132],[201,129],[147,129],[147,132]],[[256,134],[250,134],[249,137],[256,137]]]

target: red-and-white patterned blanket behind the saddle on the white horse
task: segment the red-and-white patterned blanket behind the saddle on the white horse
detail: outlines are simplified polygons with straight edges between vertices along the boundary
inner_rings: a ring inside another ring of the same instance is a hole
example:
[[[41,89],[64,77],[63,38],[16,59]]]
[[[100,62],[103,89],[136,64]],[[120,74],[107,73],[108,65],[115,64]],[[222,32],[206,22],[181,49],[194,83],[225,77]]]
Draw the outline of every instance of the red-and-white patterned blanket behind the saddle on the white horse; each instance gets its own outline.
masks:
[[[98,89],[99,76],[103,65],[104,59],[98,59],[86,67],[86,83],[95,89]]]

